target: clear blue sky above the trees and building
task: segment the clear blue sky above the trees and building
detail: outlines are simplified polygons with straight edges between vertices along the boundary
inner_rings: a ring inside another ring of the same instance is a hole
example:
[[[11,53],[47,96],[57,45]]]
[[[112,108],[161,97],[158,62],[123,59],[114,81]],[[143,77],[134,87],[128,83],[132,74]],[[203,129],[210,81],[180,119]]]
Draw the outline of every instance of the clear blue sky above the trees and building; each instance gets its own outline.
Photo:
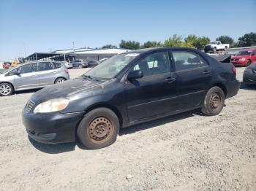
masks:
[[[0,61],[34,52],[256,32],[256,0],[0,0]]]

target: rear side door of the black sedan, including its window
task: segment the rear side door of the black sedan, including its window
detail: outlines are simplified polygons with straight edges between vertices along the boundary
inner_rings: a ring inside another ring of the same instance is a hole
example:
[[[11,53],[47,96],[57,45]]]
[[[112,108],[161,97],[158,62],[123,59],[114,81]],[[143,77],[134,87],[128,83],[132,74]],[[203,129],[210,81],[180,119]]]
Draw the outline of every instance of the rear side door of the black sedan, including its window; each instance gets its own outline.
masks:
[[[173,63],[178,92],[178,109],[192,109],[202,104],[211,82],[211,67],[190,50],[173,50]]]

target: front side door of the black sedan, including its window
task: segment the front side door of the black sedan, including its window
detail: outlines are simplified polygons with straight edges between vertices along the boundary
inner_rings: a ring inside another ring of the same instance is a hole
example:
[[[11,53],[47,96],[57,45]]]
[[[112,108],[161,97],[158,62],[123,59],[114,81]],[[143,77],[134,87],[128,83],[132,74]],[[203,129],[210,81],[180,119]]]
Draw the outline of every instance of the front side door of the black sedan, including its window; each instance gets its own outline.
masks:
[[[130,122],[178,109],[168,52],[147,55],[130,71],[136,70],[142,71],[143,77],[127,80],[124,90]]]

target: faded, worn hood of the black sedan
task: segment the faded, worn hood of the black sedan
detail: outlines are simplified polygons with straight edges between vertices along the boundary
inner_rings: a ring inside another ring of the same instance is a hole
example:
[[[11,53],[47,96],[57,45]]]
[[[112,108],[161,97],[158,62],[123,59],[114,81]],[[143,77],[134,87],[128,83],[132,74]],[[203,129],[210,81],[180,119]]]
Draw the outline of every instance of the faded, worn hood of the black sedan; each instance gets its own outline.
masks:
[[[91,89],[102,89],[108,82],[110,82],[110,80],[97,81],[94,79],[78,77],[61,84],[45,87],[42,90],[37,91],[37,93],[34,93],[34,95],[31,96],[31,100],[36,104],[39,104],[53,98],[68,98],[69,100],[72,100],[77,97],[86,97],[86,95],[89,96],[94,94],[94,91]]]

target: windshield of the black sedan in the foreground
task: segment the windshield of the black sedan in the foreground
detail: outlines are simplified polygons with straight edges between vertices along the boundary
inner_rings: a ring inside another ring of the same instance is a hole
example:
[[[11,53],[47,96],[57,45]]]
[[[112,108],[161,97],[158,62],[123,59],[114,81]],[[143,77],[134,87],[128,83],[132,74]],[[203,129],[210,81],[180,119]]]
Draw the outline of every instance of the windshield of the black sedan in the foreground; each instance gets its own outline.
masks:
[[[86,76],[102,79],[111,79],[124,69],[127,64],[132,61],[138,53],[126,53],[121,55],[115,55],[108,60],[95,66],[90,71],[86,72]]]

